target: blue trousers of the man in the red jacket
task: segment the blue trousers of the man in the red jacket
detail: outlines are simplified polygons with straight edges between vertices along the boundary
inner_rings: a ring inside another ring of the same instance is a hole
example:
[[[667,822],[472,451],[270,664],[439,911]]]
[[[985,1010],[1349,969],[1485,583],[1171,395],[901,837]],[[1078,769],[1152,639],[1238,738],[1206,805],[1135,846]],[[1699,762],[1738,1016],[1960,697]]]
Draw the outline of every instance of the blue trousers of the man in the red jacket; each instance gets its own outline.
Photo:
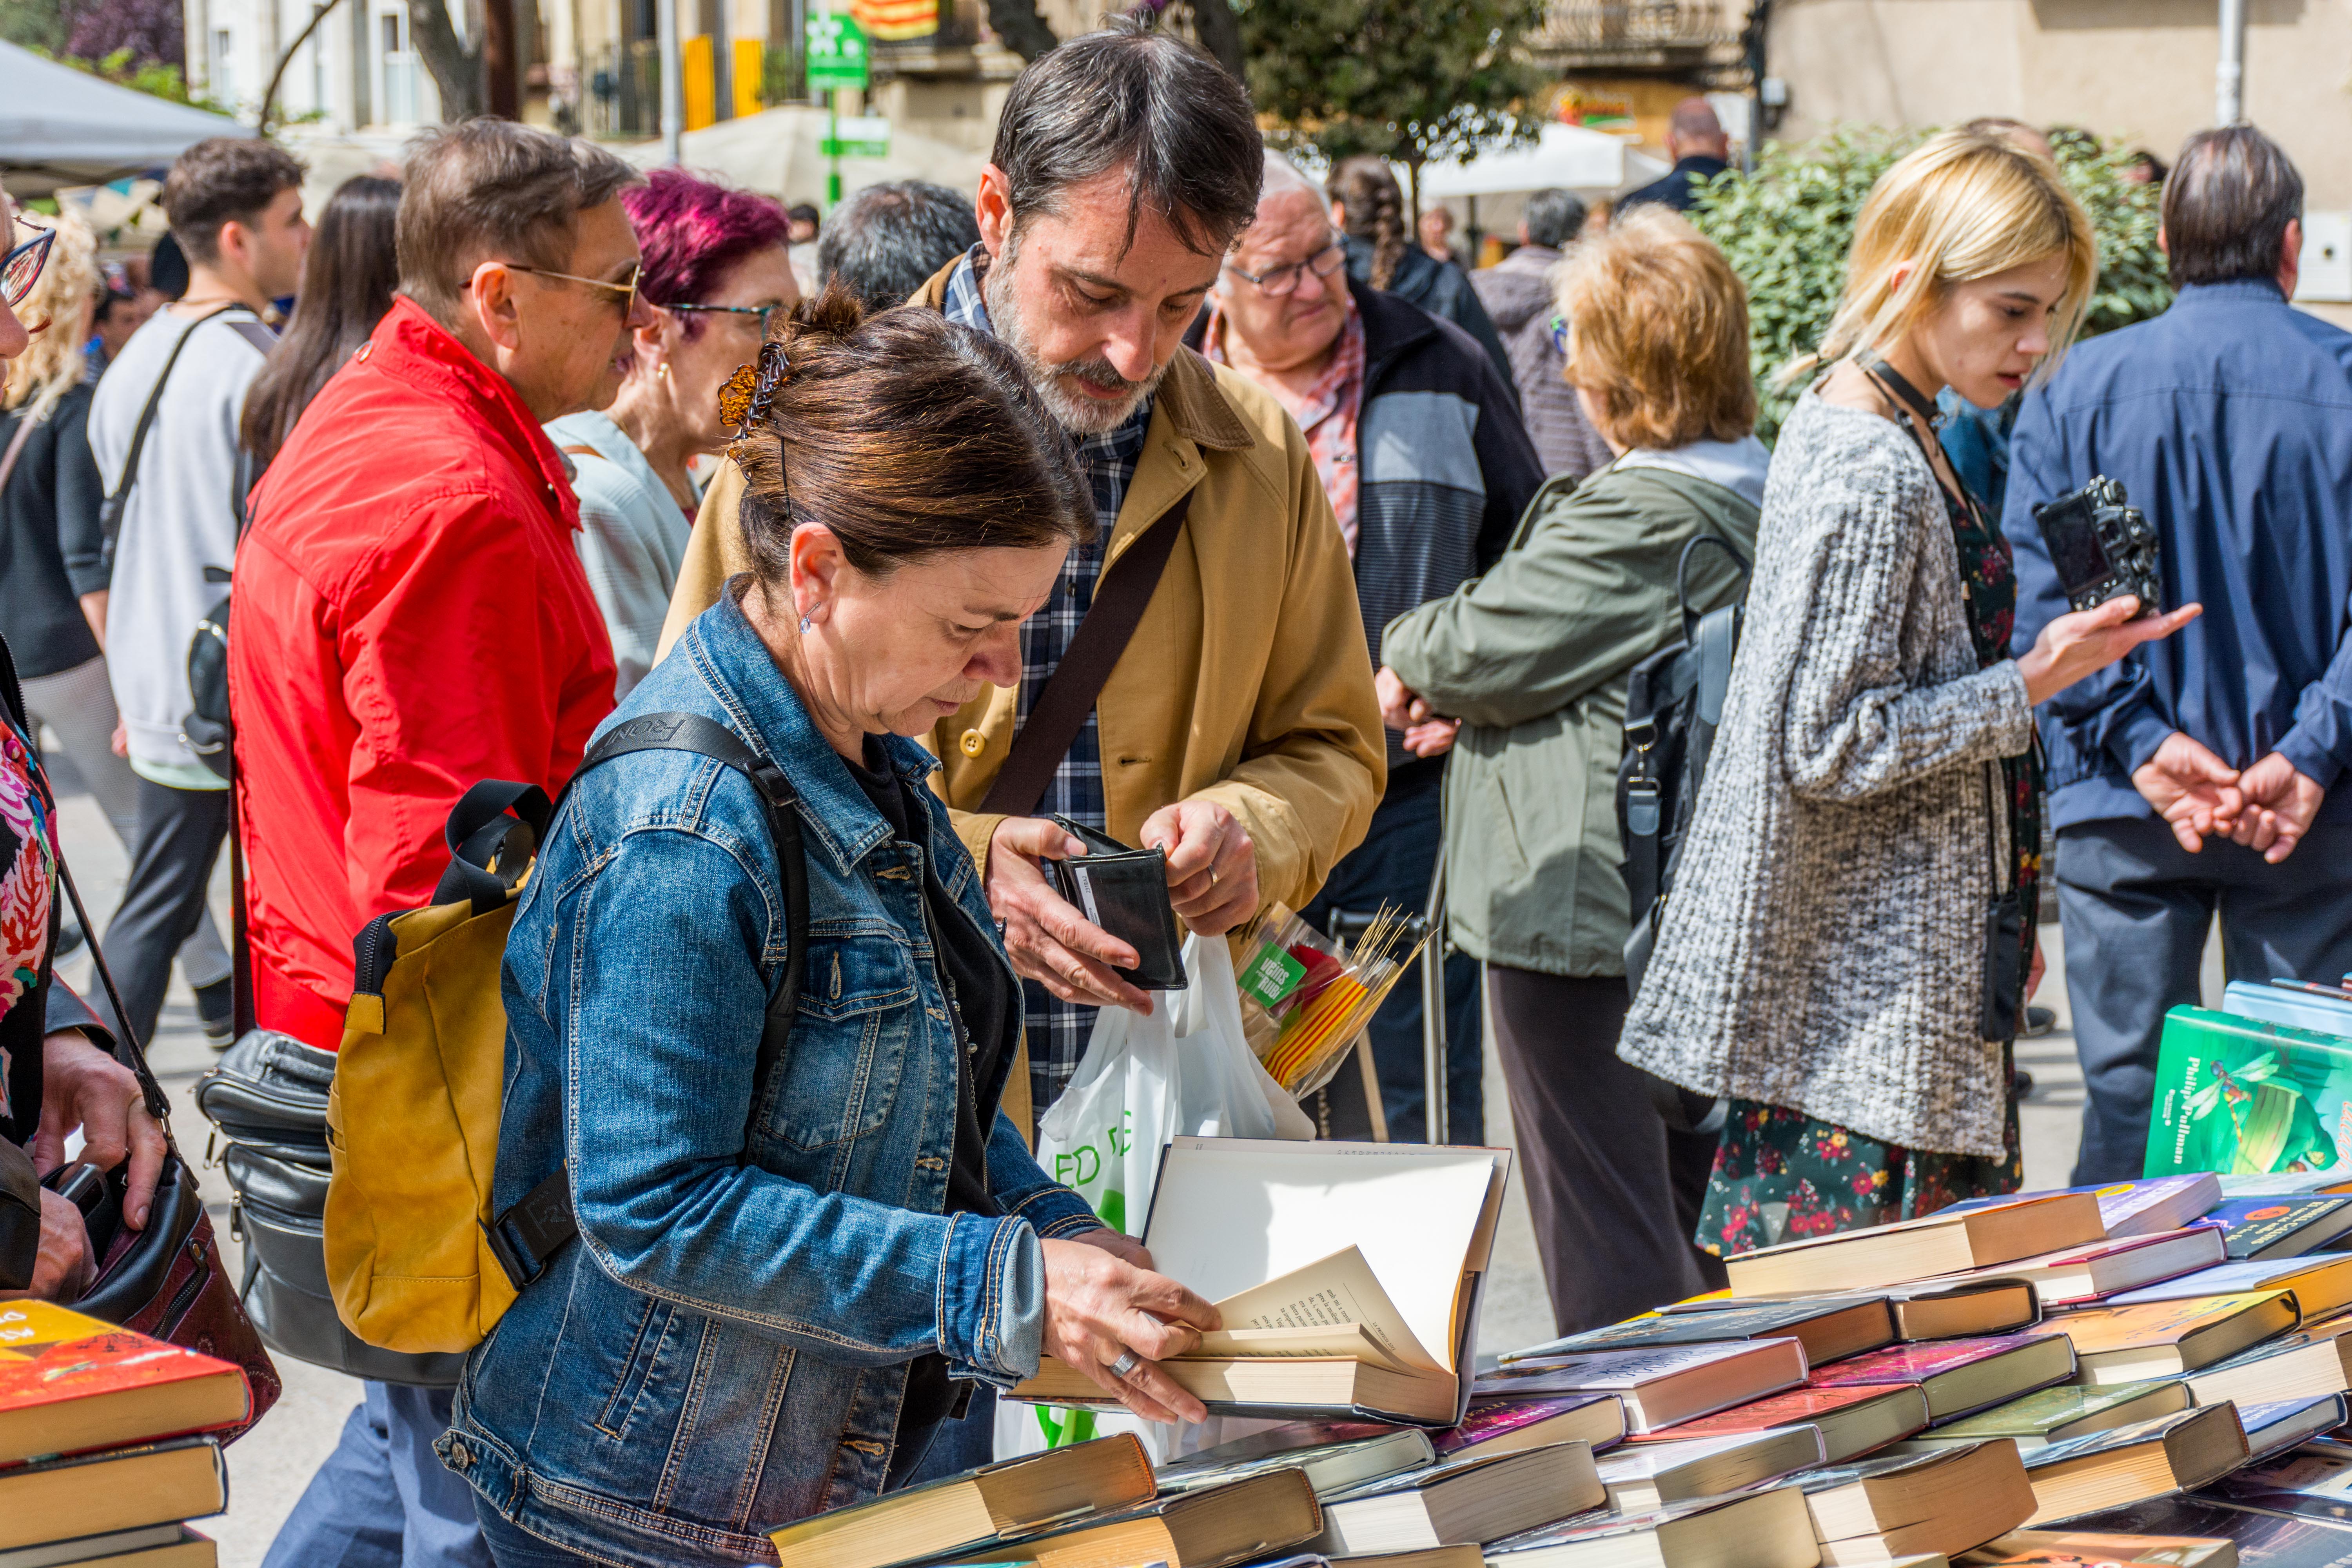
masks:
[[[261,1568],[492,1568],[473,1488],[442,1469],[449,1389],[369,1382]]]

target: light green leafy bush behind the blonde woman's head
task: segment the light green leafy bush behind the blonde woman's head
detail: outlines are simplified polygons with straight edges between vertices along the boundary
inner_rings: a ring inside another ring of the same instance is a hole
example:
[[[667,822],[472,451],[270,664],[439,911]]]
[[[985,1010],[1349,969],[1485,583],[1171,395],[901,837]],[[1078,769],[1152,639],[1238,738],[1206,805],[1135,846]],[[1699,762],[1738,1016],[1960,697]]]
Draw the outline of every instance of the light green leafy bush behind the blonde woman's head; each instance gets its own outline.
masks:
[[[1804,143],[1764,143],[1752,179],[1722,174],[1691,207],[1691,221],[1715,240],[1748,284],[1750,364],[1757,376],[1757,435],[1766,442],[1797,402],[1773,374],[1813,353],[1846,287],[1846,249],[1870,186],[1929,132],[1839,127]],[[2112,331],[2161,315],[2173,292],[2157,252],[2154,186],[2124,179],[2122,146],[2067,136],[2058,172],[2098,233],[2098,289],[2084,334]]]

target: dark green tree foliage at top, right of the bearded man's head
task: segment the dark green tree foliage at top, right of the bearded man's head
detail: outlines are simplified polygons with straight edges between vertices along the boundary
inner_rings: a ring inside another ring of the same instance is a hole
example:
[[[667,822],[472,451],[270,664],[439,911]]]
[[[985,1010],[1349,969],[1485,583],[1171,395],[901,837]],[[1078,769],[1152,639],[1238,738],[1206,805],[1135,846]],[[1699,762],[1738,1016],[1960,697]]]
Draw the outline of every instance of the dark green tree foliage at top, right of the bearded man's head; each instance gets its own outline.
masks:
[[[1543,0],[1237,0],[1242,56],[1275,141],[1414,169],[1524,146],[1543,80],[1519,40]]]

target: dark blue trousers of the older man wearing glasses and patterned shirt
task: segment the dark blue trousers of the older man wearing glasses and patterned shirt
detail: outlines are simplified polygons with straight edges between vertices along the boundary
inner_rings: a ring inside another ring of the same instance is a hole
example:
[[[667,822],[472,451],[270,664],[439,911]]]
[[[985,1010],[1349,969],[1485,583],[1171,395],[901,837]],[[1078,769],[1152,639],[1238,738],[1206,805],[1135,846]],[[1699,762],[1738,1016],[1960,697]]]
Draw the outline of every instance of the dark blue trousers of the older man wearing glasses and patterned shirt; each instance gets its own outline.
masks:
[[[1371,914],[1383,903],[1421,914],[1430,905],[1437,846],[1444,839],[1439,788],[1444,759],[1409,762],[1388,776],[1388,795],[1371,813],[1371,832],[1331,867],[1322,893],[1301,910],[1317,931],[1331,912]],[[1430,938],[1439,940],[1439,938]],[[1381,1074],[1381,1110],[1392,1143],[1423,1143],[1421,1105],[1428,1098],[1421,1060],[1421,971],[1397,980],[1371,1018],[1371,1063]],[[1477,959],[1446,959],[1446,1140],[1484,1143],[1484,1041],[1479,1037]]]

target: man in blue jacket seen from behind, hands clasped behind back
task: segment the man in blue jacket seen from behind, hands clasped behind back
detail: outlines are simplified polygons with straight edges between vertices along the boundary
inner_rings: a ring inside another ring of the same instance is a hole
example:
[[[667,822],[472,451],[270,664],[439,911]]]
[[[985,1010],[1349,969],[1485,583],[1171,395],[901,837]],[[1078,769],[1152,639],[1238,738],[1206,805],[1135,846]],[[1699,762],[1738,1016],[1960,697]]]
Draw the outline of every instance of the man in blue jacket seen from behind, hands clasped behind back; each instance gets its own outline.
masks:
[[[2253,127],[2164,188],[2173,308],[2077,348],[2025,400],[2002,527],[2011,646],[2067,609],[2034,505],[2093,475],[2161,536],[2204,616],[2042,710],[2067,994],[2089,1098],[2077,1182],[2140,1173],[2164,1011],[2232,976],[2352,969],[2352,334],[2286,303],[2303,179]]]

